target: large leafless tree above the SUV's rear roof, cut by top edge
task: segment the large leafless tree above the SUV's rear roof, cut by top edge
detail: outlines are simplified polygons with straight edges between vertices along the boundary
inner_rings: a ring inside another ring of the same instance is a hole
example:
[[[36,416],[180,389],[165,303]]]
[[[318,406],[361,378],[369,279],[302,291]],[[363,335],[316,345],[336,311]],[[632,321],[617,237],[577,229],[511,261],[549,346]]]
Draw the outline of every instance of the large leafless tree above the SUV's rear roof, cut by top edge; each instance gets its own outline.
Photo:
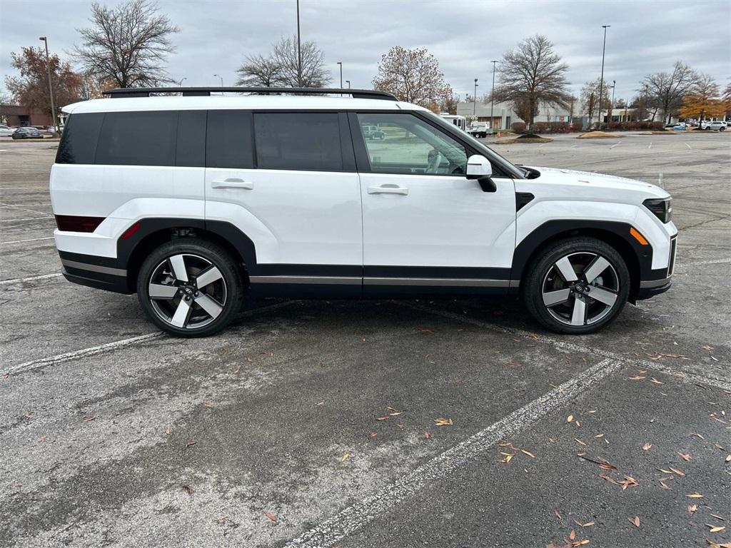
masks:
[[[128,0],[108,8],[91,4],[92,26],[77,29],[83,40],[75,58],[86,72],[120,88],[171,82],[164,69],[175,49],[170,36],[179,31],[147,0]]]

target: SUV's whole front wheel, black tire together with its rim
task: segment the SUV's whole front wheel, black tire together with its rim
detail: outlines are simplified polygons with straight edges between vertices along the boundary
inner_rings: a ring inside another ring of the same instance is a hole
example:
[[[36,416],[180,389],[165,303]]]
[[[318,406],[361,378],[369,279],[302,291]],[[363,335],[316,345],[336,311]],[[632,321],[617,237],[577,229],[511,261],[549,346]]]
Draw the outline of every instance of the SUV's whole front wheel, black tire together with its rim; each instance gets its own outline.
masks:
[[[594,270],[604,265],[599,259],[605,259],[607,267],[594,275]],[[565,266],[565,260],[575,271],[575,281],[568,279],[571,275],[561,275],[563,270],[558,263]],[[593,280],[587,281],[587,273]],[[526,270],[521,286],[526,308],[543,327],[583,335],[599,331],[622,311],[629,297],[630,278],[627,265],[615,248],[602,240],[580,236],[559,240],[537,256]],[[591,298],[592,295],[601,295],[602,300]],[[553,300],[556,302],[549,304]],[[582,315],[583,324],[578,324]]]

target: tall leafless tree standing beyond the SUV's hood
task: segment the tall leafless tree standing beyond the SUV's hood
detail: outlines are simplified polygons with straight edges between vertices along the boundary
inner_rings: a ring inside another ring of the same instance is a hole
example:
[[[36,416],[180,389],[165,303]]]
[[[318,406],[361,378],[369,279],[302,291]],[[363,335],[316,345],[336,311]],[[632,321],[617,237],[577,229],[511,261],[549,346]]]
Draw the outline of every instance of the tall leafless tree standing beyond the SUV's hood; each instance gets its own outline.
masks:
[[[495,101],[512,102],[515,113],[528,128],[538,113],[539,103],[568,107],[571,94],[564,73],[569,65],[553,53],[553,44],[545,36],[526,38],[518,47],[505,53],[500,64],[500,83]]]

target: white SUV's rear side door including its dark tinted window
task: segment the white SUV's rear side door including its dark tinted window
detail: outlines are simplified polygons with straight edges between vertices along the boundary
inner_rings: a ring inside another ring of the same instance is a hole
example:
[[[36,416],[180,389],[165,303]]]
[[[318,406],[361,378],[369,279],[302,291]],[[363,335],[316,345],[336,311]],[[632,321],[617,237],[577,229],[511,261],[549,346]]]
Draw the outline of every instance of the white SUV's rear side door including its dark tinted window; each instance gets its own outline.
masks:
[[[344,113],[211,110],[206,223],[249,237],[251,288],[360,295],[360,186]]]

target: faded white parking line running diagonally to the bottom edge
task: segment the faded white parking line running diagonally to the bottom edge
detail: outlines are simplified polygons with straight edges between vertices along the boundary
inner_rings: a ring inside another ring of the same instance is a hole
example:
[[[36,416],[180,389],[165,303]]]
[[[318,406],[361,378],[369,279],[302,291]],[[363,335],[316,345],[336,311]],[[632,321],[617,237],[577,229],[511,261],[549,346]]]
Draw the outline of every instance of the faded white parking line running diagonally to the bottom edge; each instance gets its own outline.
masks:
[[[383,487],[373,495],[368,495],[363,501],[348,506],[335,517],[292,540],[288,546],[314,548],[335,544],[392,509],[396,504],[415,495],[425,487],[427,482],[444,478],[500,441],[534,425],[544,416],[563,407],[621,367],[621,363],[612,359],[602,360],[561,386],[513,411],[485,430],[480,430],[460,444],[447,449],[406,476]]]

